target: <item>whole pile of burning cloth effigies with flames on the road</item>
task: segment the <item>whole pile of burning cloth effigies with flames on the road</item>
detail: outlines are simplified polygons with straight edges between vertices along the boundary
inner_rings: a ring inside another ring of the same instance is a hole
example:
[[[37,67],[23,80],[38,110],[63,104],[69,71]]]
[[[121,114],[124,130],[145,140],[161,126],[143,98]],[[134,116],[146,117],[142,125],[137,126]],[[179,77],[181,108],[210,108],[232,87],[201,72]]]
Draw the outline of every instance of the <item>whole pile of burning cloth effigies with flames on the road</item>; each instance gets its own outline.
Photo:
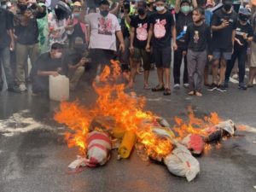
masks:
[[[111,150],[118,149],[119,159],[136,151],[142,160],[161,162],[172,174],[192,181],[200,172],[193,154],[207,152],[211,143],[231,137],[233,121],[224,121],[217,113],[199,119],[189,108],[189,120],[175,117],[171,127],[166,119],[144,109],[143,96],[125,93],[125,84],[117,83],[120,74],[119,62],[111,61],[111,67],[105,67],[99,82],[93,84],[98,95],[94,107],[61,102],[55,113],[55,120],[69,129],[65,134],[68,147],[80,150],[77,160],[68,166],[71,172],[103,166]]]

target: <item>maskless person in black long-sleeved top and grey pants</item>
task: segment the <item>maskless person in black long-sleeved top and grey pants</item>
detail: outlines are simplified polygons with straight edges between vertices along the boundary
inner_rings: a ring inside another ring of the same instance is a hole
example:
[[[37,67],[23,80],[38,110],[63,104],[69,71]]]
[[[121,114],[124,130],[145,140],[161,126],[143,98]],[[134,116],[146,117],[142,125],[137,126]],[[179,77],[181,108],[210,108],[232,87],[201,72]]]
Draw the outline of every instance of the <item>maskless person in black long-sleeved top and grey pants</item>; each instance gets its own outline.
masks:
[[[211,30],[204,22],[204,15],[204,9],[200,7],[194,9],[193,23],[189,24],[185,35],[185,43],[188,46],[189,96],[202,96],[201,90],[207,54],[209,61],[212,60]],[[196,81],[195,73],[197,73]]]

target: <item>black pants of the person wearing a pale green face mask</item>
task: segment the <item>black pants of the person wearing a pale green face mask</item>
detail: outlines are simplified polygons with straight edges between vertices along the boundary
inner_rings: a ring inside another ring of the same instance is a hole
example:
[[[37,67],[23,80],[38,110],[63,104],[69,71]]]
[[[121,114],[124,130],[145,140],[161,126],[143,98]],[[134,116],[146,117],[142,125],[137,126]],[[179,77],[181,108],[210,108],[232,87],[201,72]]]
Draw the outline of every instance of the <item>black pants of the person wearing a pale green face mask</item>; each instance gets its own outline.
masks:
[[[177,50],[174,51],[174,66],[173,66],[174,84],[180,84],[180,67],[183,62],[183,57],[184,57],[183,84],[189,83],[187,56],[186,55],[183,56],[184,50],[185,49],[181,47],[177,47]]]

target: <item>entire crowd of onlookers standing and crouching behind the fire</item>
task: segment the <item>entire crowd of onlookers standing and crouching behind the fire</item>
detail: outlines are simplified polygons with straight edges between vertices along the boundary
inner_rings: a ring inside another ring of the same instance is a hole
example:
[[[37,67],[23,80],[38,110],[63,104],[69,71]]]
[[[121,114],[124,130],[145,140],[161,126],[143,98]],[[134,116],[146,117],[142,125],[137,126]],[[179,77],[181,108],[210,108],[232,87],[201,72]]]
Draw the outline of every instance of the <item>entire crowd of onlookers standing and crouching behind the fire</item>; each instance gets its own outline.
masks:
[[[238,9],[232,0],[0,2],[0,71],[9,91],[20,93],[32,84],[32,95],[47,95],[50,75],[66,75],[76,90],[85,70],[92,84],[112,59],[119,60],[127,89],[143,71],[143,89],[171,95],[171,62],[173,89],[183,82],[190,96],[202,96],[204,86],[227,91],[236,61],[238,88],[253,87],[255,0],[242,0]],[[151,88],[154,67],[158,84]]]

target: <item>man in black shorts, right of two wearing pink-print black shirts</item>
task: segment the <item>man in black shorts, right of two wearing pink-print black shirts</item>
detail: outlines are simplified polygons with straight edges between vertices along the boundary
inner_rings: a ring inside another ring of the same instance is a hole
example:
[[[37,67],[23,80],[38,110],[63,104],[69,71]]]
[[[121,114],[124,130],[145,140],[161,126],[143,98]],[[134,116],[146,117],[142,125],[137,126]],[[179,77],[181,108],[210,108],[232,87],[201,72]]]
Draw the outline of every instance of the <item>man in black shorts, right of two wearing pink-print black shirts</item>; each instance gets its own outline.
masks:
[[[173,49],[176,50],[176,28],[172,13],[166,9],[166,1],[157,0],[155,5],[157,12],[149,18],[150,28],[146,46],[146,50],[150,52],[150,43],[153,38],[154,61],[159,84],[152,91],[164,91],[164,95],[169,96],[171,95],[171,40],[173,39]],[[166,84],[164,84],[164,75]]]

